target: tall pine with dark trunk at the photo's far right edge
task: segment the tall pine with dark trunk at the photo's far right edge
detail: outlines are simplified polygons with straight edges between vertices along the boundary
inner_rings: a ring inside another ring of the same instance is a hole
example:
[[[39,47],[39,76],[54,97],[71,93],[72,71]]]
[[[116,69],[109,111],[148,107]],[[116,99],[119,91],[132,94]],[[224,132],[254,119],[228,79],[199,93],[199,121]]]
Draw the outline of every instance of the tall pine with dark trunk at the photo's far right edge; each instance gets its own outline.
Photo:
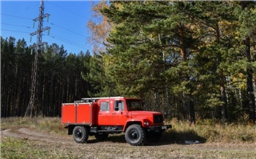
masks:
[[[256,2],[255,1],[242,1],[239,3],[241,8],[236,10],[239,17],[238,22],[241,24],[238,28],[241,43],[244,44],[241,52],[246,55],[246,91],[248,93],[248,109],[249,120],[255,124],[255,94],[253,90],[253,74],[256,70],[255,55],[252,50],[252,40],[256,37]],[[255,48],[254,48],[255,49]]]

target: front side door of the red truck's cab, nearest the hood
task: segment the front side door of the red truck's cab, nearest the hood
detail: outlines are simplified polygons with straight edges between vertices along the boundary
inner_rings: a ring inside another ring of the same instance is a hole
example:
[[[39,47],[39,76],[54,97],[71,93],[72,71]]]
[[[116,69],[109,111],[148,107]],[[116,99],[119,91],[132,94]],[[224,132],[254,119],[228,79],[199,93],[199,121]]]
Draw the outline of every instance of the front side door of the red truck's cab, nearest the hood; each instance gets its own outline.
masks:
[[[124,108],[124,101],[116,100],[112,112],[112,125],[124,125],[127,121],[127,111]]]

